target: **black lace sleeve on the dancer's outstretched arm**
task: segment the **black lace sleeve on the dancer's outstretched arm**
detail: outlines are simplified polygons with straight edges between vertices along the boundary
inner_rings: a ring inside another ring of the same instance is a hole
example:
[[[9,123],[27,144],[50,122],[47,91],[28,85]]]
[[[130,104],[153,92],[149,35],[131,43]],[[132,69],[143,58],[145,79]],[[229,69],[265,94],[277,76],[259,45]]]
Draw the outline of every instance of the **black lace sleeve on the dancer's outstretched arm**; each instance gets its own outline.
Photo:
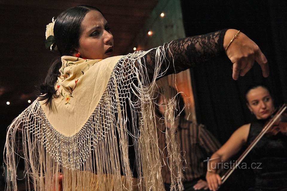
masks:
[[[219,30],[205,35],[192,36],[174,40],[164,44],[166,58],[169,62],[161,65],[163,75],[178,73],[202,63],[214,56],[224,53],[223,39],[227,29]],[[149,79],[154,76],[156,49],[144,56]]]

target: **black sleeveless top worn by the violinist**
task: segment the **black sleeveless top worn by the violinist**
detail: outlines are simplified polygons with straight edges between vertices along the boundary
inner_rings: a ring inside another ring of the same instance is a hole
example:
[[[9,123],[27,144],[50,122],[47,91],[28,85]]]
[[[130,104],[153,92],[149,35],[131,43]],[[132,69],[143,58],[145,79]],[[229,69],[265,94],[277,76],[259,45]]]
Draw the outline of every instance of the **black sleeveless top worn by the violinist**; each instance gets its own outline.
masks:
[[[261,132],[267,120],[251,123],[247,144]],[[287,190],[287,135],[263,135],[250,152],[255,184],[250,190]]]

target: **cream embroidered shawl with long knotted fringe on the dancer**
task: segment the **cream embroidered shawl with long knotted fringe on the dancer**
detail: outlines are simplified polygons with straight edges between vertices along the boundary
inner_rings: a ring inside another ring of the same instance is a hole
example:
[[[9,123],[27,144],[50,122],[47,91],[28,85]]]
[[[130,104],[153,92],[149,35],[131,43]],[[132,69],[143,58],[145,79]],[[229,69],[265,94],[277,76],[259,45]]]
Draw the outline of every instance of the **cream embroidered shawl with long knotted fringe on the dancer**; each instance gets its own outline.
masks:
[[[175,103],[168,80],[155,81],[164,75],[160,72],[161,64],[167,61],[164,51],[163,47],[157,49],[152,81],[141,59],[148,52],[104,60],[63,56],[52,108],[36,100],[8,129],[5,160],[11,184],[7,189],[17,190],[20,136],[29,190],[53,190],[60,172],[63,190],[164,190],[154,110],[158,84],[165,97],[170,97],[166,120],[171,124]],[[127,116],[126,107],[131,108],[131,116]],[[129,135],[133,137],[138,179],[133,178],[130,168]],[[172,153],[167,160],[173,174],[171,188],[181,190],[175,129],[171,128],[166,138],[168,153]]]

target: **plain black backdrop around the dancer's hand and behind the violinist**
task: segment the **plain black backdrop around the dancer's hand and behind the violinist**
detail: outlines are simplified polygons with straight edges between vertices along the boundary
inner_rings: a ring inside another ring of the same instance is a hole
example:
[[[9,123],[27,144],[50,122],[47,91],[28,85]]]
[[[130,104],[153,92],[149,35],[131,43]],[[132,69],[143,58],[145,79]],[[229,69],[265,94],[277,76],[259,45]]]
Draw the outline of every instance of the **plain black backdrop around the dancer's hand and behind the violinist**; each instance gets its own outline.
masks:
[[[268,59],[270,76],[267,78],[262,77],[256,63],[244,77],[233,80],[232,64],[226,56],[193,68],[197,121],[205,124],[224,144],[238,127],[252,120],[244,99],[248,86],[265,84],[277,105],[287,103],[287,3],[182,0],[181,5],[186,36],[223,28],[237,29],[256,42]],[[245,190],[250,186],[248,183],[252,183],[252,172],[235,170],[221,190]]]

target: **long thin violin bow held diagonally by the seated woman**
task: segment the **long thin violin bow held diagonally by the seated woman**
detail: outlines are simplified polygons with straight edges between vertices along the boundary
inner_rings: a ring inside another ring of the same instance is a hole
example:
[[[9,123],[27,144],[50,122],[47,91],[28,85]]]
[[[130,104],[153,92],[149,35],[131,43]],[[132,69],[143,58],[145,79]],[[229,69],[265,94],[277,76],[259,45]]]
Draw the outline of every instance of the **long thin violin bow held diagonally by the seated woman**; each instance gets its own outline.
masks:
[[[236,160],[236,163],[233,163],[233,167],[231,167],[222,177],[222,184],[226,181],[226,179],[231,175],[231,173],[238,167],[238,165],[242,162],[245,156],[251,151],[251,149],[257,144],[257,142],[261,139],[261,137],[268,131],[270,127],[274,124],[275,121],[280,117],[280,115],[286,110],[287,105],[283,104],[277,113],[271,118],[271,120],[264,126],[262,131],[257,135],[257,137],[251,142],[251,144],[247,147],[247,149],[240,155],[240,157]]]

